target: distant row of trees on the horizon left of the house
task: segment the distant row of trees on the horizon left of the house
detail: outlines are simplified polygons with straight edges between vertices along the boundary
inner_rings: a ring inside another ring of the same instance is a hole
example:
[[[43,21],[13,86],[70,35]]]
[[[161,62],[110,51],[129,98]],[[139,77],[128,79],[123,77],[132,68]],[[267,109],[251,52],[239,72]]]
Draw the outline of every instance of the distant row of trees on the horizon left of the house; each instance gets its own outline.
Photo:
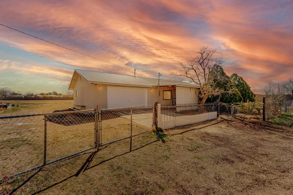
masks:
[[[11,97],[11,96],[17,96],[17,95],[24,95],[24,96],[28,96],[28,97],[35,97],[37,95],[42,95],[42,96],[51,96],[51,95],[55,95],[55,96],[62,96],[62,93],[58,93],[58,92],[48,92],[48,93],[38,93],[38,94],[34,94],[31,92],[27,92],[25,94],[22,93],[17,93],[14,92],[12,90],[9,90],[7,88],[2,88],[0,90],[0,97],[4,98],[4,97]],[[72,97],[73,94],[71,92],[67,92],[66,94],[64,94],[63,96],[67,96],[67,97]]]

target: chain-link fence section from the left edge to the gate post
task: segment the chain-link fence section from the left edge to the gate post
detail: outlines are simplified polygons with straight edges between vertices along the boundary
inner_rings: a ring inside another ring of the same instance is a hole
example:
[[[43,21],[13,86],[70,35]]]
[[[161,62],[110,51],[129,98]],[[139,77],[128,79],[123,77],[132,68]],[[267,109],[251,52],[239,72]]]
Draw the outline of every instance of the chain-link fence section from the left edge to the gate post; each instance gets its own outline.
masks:
[[[95,148],[94,110],[0,117],[0,178]]]

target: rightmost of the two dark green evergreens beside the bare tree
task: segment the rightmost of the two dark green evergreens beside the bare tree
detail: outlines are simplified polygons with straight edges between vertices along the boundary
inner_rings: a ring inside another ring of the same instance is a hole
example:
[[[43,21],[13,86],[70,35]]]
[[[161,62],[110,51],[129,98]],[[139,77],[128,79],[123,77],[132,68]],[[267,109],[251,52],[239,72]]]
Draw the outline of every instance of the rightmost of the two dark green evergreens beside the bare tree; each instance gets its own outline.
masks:
[[[251,91],[249,85],[242,77],[239,77],[236,73],[231,75],[231,81],[235,84],[236,88],[243,97],[243,101],[255,101],[255,94]]]

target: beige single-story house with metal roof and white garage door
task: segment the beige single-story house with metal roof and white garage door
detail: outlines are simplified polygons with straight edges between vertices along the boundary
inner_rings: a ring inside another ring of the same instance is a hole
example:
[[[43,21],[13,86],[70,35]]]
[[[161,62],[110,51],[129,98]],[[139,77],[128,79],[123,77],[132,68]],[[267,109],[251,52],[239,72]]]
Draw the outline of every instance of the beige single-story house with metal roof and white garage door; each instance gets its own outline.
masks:
[[[198,103],[199,86],[161,80],[75,69],[70,90],[78,109],[122,108],[161,104]]]

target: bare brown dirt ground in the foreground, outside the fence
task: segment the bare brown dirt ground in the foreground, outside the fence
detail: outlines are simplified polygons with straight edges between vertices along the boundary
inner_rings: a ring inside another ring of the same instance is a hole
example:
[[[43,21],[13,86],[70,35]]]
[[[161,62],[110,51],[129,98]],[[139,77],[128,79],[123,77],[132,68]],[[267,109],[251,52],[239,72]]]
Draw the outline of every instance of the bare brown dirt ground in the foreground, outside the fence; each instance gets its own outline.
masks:
[[[0,183],[1,193],[292,194],[292,128],[220,118],[115,142]]]

